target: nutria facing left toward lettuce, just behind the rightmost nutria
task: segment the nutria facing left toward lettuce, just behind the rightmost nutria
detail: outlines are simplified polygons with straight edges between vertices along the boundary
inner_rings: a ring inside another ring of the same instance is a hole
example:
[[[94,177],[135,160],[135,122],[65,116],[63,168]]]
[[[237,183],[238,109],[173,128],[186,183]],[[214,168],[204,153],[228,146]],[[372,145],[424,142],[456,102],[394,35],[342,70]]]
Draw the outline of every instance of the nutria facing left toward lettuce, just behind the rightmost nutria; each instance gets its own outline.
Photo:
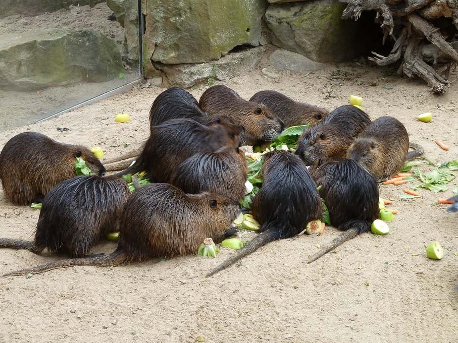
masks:
[[[306,165],[318,159],[344,159],[353,140],[371,123],[366,112],[343,105],[334,109],[324,120],[302,133],[297,140],[298,155]]]

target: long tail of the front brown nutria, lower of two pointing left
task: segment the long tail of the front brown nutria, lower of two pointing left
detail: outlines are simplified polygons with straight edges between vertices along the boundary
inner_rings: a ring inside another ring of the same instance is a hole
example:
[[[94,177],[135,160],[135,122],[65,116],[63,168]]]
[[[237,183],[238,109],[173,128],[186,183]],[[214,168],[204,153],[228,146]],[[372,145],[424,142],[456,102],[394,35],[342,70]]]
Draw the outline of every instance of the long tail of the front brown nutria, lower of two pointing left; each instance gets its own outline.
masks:
[[[110,255],[86,257],[86,258],[71,258],[67,260],[61,260],[57,262],[51,262],[42,264],[37,267],[25,268],[21,270],[10,271],[9,273],[3,274],[3,276],[18,276],[25,274],[39,274],[45,271],[67,268],[74,266],[98,266],[98,267],[114,267],[123,263],[126,259],[126,254],[121,251],[115,251]]]

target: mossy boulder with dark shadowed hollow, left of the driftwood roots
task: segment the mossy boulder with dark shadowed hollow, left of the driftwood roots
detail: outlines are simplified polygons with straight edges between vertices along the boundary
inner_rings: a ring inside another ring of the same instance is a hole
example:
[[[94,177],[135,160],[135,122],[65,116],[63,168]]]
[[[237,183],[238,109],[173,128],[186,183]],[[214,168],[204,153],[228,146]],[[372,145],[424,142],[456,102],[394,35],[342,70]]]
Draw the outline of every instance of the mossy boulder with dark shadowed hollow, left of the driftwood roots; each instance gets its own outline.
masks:
[[[265,20],[272,43],[323,63],[360,56],[366,49],[361,25],[340,18],[345,6],[338,0],[270,4]]]

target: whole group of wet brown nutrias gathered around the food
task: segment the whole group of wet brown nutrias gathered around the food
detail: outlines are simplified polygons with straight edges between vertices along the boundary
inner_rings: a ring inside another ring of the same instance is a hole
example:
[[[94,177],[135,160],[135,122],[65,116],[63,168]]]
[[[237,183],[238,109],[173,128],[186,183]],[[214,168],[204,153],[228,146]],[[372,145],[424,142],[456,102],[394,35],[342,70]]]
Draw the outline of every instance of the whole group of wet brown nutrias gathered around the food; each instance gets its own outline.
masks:
[[[369,230],[379,218],[377,182],[423,152],[417,145],[409,152],[414,145],[394,118],[371,122],[355,106],[328,111],[277,91],[260,91],[247,101],[225,85],[209,87],[199,101],[182,88],[169,88],[152,103],[149,123],[149,138],[135,163],[112,176],[82,146],[35,132],[6,143],[0,153],[6,198],[42,207],[33,242],[5,238],[0,247],[36,254],[47,249],[71,258],[4,276],[188,255],[205,238],[220,243],[236,233],[232,222],[246,194],[247,160],[239,147],[306,124],[310,128],[294,152],[274,150],[262,157],[263,185],[251,202],[259,235],[208,276],[268,242],[302,232],[322,218],[322,199],[332,224],[345,231],[335,247]],[[76,175],[77,157],[92,175]],[[122,176],[140,172],[152,183],[130,193]],[[113,231],[119,232],[116,251],[91,256],[100,236]]]

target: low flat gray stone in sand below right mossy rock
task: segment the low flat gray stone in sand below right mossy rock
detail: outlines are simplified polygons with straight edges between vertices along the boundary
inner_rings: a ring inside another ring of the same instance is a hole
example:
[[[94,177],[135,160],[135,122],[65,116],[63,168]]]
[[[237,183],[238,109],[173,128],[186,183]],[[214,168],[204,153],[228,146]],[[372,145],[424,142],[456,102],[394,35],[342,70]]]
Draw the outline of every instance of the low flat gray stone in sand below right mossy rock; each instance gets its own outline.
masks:
[[[294,73],[304,73],[323,69],[323,64],[314,62],[300,53],[276,49],[269,57],[269,62],[278,71],[290,70]]]

